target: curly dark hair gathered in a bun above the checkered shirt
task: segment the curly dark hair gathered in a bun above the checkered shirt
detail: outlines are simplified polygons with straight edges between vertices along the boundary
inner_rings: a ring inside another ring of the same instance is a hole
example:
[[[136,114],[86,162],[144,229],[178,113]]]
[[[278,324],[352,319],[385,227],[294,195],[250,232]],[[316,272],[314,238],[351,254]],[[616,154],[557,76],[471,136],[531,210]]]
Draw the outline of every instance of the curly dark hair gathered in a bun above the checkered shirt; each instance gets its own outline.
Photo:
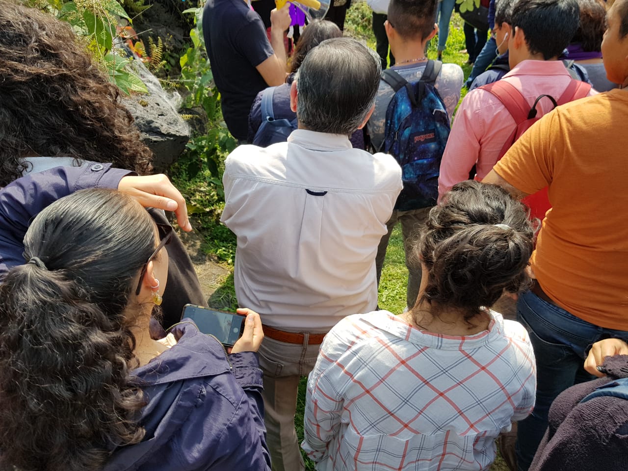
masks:
[[[497,226],[504,224],[506,226]],[[416,247],[428,271],[417,306],[454,308],[470,320],[504,293],[529,284],[533,251],[528,211],[496,185],[463,181],[432,208]]]

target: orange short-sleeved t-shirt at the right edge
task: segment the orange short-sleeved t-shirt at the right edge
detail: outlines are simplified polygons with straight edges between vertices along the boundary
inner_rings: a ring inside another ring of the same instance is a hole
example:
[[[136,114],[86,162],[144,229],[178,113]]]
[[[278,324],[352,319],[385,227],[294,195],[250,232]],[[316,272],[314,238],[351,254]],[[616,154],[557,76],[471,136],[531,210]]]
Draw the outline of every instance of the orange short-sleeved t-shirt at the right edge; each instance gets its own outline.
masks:
[[[543,116],[494,170],[552,209],[532,256],[543,291],[573,315],[628,330],[628,91],[570,102]]]

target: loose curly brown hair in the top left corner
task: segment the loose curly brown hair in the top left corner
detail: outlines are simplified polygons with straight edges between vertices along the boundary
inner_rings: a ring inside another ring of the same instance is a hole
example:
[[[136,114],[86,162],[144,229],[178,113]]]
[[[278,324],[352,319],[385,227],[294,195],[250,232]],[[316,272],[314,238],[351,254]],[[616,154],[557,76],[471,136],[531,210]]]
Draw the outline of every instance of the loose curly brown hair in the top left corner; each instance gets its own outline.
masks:
[[[0,187],[19,178],[31,156],[152,170],[120,90],[68,23],[0,0],[0,84]]]

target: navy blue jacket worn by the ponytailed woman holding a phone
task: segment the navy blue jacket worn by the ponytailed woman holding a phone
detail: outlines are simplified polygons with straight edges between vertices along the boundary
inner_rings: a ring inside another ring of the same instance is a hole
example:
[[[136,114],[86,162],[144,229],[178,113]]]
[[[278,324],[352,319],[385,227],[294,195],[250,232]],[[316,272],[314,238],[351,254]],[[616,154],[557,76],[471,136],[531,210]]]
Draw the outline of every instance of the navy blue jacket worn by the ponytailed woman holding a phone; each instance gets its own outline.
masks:
[[[146,436],[114,450],[103,471],[269,471],[256,354],[226,355],[189,319],[172,333],[178,343],[134,371],[146,385]]]

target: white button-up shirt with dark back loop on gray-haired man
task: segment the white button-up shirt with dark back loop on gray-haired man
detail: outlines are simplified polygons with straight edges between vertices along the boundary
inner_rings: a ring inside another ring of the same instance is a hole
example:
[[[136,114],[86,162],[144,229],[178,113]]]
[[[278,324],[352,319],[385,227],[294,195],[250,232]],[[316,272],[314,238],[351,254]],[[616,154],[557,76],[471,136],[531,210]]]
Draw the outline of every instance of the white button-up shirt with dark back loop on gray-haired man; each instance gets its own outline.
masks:
[[[376,307],[377,244],[402,188],[393,157],[297,129],[287,143],[236,148],[223,181],[240,306],[310,332]]]

